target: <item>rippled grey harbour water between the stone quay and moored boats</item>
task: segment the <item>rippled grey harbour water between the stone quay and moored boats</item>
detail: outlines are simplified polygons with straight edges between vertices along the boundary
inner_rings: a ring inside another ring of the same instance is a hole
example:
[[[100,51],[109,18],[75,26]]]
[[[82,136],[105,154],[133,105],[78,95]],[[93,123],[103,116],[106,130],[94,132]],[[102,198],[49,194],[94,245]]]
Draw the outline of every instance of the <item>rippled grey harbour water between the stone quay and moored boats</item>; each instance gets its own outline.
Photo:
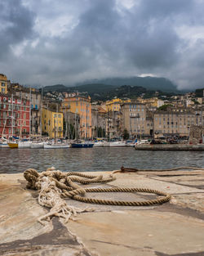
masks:
[[[43,171],[112,171],[128,168],[204,167],[204,152],[139,151],[134,148],[0,149],[0,173],[22,173],[26,168]]]

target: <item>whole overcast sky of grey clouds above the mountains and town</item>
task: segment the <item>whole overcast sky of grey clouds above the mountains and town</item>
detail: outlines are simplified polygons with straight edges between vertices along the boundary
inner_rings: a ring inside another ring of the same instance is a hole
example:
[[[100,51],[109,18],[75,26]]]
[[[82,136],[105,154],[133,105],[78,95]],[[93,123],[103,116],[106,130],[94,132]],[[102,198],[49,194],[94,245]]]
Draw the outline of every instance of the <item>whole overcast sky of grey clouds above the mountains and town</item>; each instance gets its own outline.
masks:
[[[0,73],[22,84],[161,76],[204,87],[204,0],[1,0]]]

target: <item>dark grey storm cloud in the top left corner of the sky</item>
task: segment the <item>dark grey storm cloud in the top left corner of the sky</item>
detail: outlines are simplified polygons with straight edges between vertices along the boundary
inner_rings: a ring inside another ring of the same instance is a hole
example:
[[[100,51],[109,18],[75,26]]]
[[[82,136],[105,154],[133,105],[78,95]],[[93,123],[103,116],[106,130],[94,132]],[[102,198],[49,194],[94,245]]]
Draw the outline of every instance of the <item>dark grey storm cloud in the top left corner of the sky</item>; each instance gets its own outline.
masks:
[[[22,42],[32,34],[33,12],[21,5],[20,0],[0,2],[0,59],[9,52],[11,45]]]

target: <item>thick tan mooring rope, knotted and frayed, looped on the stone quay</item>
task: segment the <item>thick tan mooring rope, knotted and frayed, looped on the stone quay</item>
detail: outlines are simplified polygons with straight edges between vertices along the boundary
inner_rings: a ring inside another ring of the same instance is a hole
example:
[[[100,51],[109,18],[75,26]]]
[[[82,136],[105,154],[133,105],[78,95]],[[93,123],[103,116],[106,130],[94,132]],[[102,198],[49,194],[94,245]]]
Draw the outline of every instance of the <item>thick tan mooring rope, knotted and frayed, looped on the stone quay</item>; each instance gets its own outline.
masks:
[[[133,170],[131,168],[122,168],[122,172],[127,169],[131,171]],[[55,170],[55,168],[48,168],[46,172],[38,173],[37,170],[29,168],[24,172],[24,178],[28,181],[27,188],[39,191],[38,203],[51,209],[49,213],[38,219],[43,225],[44,222],[42,222],[42,220],[49,221],[52,216],[62,217],[65,219],[65,222],[68,222],[69,218],[72,218],[72,215],[76,216],[77,213],[92,211],[92,209],[78,209],[69,206],[64,200],[64,198],[67,197],[89,204],[123,206],[149,206],[163,204],[171,200],[171,195],[149,188],[90,188],[79,186],[76,183],[78,182],[85,185],[91,183],[112,182],[116,179],[113,177],[113,174],[104,178],[102,175],[94,176],[75,172],[63,173],[59,170]],[[85,197],[86,193],[90,192],[144,192],[160,196],[155,200],[145,201],[102,200]]]

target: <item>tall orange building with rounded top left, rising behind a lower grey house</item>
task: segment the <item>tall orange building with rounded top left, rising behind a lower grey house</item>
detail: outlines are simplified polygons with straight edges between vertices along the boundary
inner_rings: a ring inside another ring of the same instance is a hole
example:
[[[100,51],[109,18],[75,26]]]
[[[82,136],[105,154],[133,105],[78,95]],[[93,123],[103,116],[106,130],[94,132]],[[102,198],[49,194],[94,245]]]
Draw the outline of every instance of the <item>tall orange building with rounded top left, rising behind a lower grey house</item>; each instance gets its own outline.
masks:
[[[62,108],[80,116],[81,138],[91,138],[91,97],[76,94],[64,98]]]

